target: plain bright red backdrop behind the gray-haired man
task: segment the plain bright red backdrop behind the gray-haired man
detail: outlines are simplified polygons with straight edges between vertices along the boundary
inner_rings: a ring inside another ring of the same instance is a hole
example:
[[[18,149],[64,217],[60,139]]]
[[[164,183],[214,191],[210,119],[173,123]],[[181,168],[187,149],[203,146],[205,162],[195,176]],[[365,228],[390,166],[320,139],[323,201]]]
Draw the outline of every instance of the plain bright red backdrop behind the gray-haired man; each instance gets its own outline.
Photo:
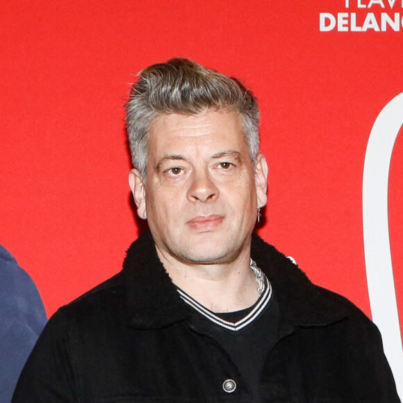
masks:
[[[399,1],[2,1],[0,243],[47,313],[120,270],[138,235],[122,106],[133,73],[183,56],[238,76],[260,100],[261,236],[370,315],[363,162],[377,115],[403,92]],[[321,13],[340,24],[320,31]],[[382,13],[399,13],[399,29],[381,31]],[[389,192],[400,305],[402,137]]]

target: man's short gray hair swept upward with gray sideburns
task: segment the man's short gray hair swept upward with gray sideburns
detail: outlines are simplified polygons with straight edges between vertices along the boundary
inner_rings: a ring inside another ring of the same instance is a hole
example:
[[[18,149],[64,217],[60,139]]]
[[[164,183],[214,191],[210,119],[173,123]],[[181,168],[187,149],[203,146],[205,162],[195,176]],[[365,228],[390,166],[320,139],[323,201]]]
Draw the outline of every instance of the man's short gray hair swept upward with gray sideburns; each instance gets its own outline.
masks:
[[[148,131],[161,114],[196,115],[206,109],[234,110],[240,115],[252,162],[259,149],[256,98],[240,81],[183,58],[151,65],[138,74],[126,103],[131,161],[145,177]]]

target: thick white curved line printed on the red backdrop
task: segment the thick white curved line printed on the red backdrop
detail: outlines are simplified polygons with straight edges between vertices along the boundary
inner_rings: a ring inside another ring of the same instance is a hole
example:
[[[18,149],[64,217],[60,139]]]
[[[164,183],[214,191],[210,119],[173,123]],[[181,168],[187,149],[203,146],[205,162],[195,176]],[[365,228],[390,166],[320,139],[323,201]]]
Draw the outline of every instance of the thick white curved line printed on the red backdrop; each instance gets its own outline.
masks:
[[[388,225],[388,179],[395,140],[403,125],[403,92],[379,113],[365,152],[363,171],[363,236],[372,320],[403,397],[403,349]]]

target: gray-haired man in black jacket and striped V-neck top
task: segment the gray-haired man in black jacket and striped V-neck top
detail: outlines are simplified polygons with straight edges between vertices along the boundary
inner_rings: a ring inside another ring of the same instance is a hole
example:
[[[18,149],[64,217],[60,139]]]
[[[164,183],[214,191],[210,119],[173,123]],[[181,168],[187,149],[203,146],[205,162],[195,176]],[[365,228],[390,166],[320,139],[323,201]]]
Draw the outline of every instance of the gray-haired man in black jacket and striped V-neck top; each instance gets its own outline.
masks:
[[[14,402],[399,402],[376,327],[252,235],[266,203],[258,106],[173,59],[127,103],[146,231],[122,272],[61,308]]]

